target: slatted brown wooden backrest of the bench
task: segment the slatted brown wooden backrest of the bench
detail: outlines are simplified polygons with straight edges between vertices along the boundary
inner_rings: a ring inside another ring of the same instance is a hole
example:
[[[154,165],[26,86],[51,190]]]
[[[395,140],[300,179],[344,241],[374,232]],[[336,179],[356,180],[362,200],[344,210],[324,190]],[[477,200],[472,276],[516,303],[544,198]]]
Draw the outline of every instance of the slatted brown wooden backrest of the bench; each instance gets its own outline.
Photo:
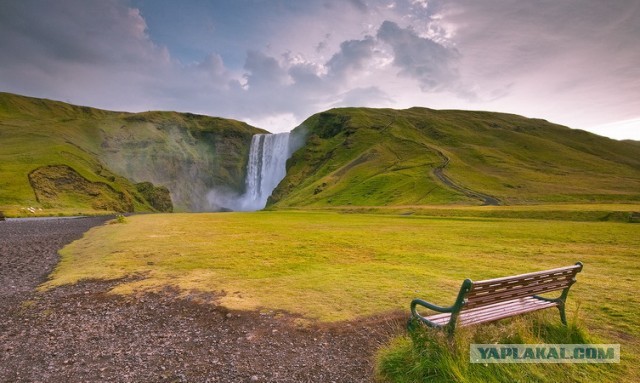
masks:
[[[582,264],[512,277],[472,282],[463,310],[563,290],[575,283]]]

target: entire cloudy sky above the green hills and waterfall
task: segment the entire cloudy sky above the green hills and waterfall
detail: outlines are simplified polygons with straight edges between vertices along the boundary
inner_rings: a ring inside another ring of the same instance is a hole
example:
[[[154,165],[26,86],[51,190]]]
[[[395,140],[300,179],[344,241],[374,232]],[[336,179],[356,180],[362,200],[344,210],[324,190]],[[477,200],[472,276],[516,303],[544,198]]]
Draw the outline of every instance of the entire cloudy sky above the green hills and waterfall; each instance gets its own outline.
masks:
[[[0,91],[289,131],[488,110],[640,140],[637,0],[0,0]]]

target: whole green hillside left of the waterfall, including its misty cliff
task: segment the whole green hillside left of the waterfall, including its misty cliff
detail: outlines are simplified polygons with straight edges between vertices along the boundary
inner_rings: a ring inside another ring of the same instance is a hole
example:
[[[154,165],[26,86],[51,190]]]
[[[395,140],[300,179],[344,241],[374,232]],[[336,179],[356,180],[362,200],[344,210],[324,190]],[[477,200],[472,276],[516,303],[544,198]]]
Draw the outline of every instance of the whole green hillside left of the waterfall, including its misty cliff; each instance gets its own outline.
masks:
[[[215,209],[206,198],[211,189],[244,188],[258,132],[221,118],[109,112],[0,93],[0,211]]]

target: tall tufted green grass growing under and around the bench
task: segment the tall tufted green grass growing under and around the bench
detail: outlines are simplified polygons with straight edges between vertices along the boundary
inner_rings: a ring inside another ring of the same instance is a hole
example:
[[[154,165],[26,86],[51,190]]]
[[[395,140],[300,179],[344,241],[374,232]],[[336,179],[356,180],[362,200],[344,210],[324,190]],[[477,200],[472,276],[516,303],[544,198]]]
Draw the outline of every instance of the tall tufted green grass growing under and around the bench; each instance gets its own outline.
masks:
[[[553,313],[556,314],[556,313]],[[619,365],[578,363],[470,363],[471,344],[599,344],[576,321],[564,326],[557,315],[535,313],[499,323],[442,330],[418,326],[391,340],[378,352],[376,375],[388,383],[419,382],[611,382]]]

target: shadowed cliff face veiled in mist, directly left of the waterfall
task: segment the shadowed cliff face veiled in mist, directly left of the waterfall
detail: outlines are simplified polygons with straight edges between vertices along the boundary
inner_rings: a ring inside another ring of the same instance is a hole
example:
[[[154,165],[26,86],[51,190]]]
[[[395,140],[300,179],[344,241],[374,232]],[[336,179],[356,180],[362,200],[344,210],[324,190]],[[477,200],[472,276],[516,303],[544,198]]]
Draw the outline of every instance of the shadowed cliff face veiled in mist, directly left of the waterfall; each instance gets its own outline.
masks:
[[[178,210],[216,211],[215,195],[242,194],[251,137],[262,132],[238,121],[150,112],[101,129],[100,159],[134,182],[171,192]]]

